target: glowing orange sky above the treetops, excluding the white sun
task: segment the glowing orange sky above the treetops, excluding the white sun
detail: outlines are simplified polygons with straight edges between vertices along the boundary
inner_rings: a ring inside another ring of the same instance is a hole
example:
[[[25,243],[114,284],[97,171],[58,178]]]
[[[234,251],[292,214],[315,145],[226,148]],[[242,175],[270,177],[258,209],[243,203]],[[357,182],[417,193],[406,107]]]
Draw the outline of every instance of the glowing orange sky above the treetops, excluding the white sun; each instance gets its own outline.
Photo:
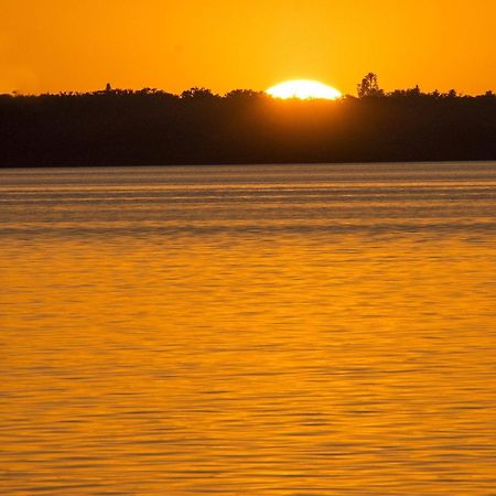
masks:
[[[0,0],[0,93],[496,89],[495,0]]]

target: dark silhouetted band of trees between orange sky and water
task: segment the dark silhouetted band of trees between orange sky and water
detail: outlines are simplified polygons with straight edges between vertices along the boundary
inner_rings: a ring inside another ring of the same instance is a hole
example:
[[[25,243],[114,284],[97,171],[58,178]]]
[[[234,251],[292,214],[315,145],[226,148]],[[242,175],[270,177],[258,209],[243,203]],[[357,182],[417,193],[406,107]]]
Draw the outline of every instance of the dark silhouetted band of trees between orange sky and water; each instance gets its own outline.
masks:
[[[360,98],[336,101],[109,86],[2,95],[0,165],[496,160],[493,93],[384,94],[374,79],[363,84]]]

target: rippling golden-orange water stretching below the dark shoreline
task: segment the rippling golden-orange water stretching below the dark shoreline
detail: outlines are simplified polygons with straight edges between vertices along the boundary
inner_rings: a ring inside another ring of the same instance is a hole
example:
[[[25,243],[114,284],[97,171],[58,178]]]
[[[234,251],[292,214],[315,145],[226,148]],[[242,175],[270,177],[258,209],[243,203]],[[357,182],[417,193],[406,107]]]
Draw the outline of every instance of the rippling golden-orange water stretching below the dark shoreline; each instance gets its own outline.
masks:
[[[496,163],[0,171],[0,494],[496,495]]]

